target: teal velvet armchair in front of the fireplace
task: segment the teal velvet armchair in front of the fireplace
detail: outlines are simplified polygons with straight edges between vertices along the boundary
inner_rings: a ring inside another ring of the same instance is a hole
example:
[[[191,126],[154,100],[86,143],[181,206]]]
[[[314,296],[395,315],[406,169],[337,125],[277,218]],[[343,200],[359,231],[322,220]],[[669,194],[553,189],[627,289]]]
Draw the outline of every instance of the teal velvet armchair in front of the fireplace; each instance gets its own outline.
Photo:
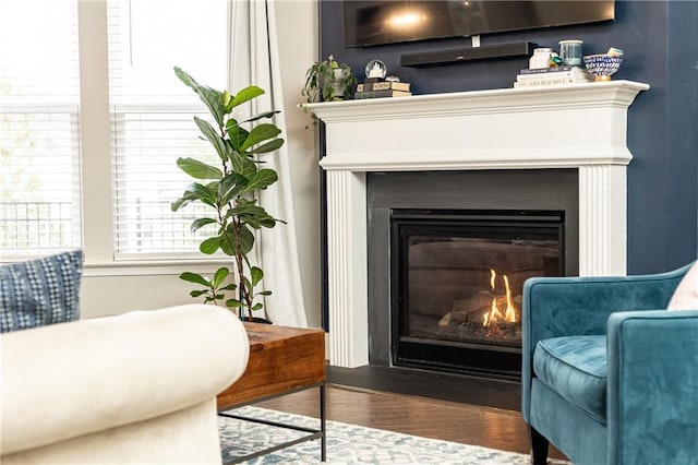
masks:
[[[521,413],[531,456],[698,464],[698,308],[667,311],[689,265],[524,286]]]

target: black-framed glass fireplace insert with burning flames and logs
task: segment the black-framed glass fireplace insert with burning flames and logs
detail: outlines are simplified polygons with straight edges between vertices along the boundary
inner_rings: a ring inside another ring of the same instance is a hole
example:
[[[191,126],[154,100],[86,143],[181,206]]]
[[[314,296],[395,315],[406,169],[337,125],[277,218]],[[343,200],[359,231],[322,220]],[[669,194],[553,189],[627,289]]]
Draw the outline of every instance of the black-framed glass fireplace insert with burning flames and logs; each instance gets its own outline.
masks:
[[[393,365],[518,377],[524,282],[564,274],[564,215],[393,210]]]

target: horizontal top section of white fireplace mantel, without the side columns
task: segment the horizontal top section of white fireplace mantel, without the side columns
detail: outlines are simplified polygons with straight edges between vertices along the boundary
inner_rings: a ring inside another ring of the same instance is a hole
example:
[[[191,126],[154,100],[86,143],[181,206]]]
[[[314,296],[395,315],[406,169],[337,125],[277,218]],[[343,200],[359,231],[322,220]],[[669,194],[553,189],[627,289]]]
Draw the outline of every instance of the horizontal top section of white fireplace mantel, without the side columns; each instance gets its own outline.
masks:
[[[328,170],[627,165],[626,109],[647,88],[610,81],[304,107],[326,123]],[[545,143],[528,142],[537,139]]]

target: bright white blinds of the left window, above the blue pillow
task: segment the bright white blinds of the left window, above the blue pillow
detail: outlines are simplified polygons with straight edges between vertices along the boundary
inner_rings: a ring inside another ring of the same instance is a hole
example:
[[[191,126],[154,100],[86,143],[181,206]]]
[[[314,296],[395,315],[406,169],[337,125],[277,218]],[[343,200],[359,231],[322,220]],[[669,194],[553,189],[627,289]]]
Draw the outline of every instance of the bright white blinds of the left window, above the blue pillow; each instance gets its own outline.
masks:
[[[79,248],[77,1],[0,2],[0,261]]]

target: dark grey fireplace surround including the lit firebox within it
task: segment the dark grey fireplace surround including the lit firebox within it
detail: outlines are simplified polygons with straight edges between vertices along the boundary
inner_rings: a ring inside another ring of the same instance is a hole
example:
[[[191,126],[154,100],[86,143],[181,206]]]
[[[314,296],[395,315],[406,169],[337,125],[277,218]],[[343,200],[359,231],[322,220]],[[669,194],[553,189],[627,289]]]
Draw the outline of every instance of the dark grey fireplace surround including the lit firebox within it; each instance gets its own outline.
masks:
[[[578,274],[576,169],[370,172],[371,365],[520,374],[520,291]]]

